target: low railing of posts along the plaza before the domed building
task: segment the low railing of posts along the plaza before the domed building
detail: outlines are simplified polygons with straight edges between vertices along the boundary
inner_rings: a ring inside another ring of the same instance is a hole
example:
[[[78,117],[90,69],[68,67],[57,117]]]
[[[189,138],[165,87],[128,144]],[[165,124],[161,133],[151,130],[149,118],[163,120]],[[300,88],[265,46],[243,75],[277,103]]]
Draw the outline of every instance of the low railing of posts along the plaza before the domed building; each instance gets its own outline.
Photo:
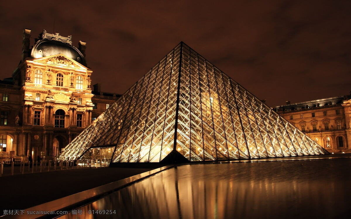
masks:
[[[34,172],[49,172],[56,170],[69,170],[69,169],[80,169],[80,168],[98,168],[98,167],[108,167],[111,159],[77,159],[77,160],[41,160],[40,162],[0,162],[0,177],[4,175],[4,166],[11,165],[11,175],[24,174],[24,173],[34,173]],[[16,169],[15,165],[19,166],[19,170]]]

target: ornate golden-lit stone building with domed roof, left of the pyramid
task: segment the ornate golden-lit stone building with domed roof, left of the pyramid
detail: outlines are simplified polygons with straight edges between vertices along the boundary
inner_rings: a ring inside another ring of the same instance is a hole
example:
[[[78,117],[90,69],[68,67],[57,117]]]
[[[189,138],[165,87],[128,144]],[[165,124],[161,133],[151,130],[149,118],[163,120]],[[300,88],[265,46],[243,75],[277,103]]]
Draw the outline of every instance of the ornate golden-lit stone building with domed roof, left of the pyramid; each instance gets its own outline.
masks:
[[[86,43],[45,30],[30,47],[24,29],[22,59],[0,81],[0,156],[51,159],[120,95],[91,90]],[[96,95],[95,95],[96,94]]]

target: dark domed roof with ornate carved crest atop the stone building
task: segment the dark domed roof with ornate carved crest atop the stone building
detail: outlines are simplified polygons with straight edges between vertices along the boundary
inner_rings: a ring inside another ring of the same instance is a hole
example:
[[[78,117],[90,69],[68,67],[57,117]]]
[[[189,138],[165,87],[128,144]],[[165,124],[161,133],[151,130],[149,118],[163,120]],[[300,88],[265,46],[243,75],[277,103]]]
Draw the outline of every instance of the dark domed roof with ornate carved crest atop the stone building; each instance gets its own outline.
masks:
[[[84,55],[77,48],[72,46],[71,36],[63,37],[60,36],[59,33],[48,34],[44,31],[41,34],[41,40],[37,41],[33,46],[31,53],[33,58],[64,54],[86,66]]]

